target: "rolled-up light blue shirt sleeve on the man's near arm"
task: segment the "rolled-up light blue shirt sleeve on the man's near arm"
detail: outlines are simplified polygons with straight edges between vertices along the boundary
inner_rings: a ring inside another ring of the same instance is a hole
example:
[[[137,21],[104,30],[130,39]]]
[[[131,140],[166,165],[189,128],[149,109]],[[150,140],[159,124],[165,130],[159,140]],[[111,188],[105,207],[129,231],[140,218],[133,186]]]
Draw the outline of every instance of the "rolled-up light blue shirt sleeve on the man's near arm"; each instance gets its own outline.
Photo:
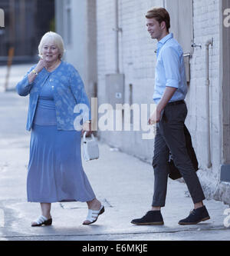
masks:
[[[179,88],[180,83],[180,60],[176,50],[172,47],[163,49],[163,65],[166,75],[166,87]]]

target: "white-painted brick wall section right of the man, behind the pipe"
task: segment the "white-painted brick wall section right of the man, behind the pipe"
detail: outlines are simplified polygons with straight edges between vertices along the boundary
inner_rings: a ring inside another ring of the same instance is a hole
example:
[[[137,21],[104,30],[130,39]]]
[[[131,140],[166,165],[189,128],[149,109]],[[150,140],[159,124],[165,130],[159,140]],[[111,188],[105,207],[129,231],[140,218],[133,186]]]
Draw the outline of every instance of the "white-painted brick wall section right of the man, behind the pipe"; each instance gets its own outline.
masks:
[[[194,42],[202,45],[195,48],[191,59],[191,83],[187,102],[189,115],[187,124],[192,133],[193,143],[199,163],[205,176],[218,182],[219,167],[222,158],[222,86],[220,85],[220,3],[218,0],[195,0]],[[213,46],[209,46],[209,79],[210,79],[210,122],[211,122],[211,155],[212,168],[207,169],[207,110],[205,86],[205,42],[213,38]]]

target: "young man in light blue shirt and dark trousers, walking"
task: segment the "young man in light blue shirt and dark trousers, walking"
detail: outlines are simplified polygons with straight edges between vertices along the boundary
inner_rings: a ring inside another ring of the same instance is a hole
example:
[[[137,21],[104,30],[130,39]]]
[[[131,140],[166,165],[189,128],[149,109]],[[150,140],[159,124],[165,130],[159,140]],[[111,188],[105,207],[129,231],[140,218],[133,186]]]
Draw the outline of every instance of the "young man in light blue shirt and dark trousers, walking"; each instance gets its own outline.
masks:
[[[176,168],[184,178],[194,203],[194,209],[179,224],[197,224],[208,220],[209,213],[203,205],[205,199],[199,178],[186,149],[184,122],[187,115],[186,70],[182,48],[169,33],[170,17],[165,8],[153,8],[146,14],[146,26],[153,39],[157,39],[157,62],[153,100],[156,111],[149,124],[156,123],[154,141],[154,195],[151,211],[143,218],[134,219],[133,224],[163,224],[160,208],[165,206],[169,175],[169,152]],[[178,195],[179,198],[180,195]],[[182,196],[182,195],[181,195]]]

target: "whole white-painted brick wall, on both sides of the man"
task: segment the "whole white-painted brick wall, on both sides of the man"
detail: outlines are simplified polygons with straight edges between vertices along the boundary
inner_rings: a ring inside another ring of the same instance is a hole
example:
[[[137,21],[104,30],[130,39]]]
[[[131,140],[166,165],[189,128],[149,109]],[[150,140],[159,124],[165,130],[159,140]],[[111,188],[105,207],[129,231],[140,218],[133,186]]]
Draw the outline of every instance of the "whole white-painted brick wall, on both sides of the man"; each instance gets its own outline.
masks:
[[[133,103],[153,103],[154,68],[156,62],[156,41],[146,32],[144,14],[153,5],[163,6],[164,1],[122,0],[119,3],[120,71],[125,74],[125,99],[129,102],[129,85],[133,85]],[[220,65],[220,0],[194,0],[194,42],[202,48],[195,48],[191,58],[191,82],[186,101],[188,117],[186,124],[191,131],[193,145],[204,186],[212,196],[218,183],[219,166],[222,159],[222,87],[219,81]],[[114,55],[114,2],[97,0],[97,69],[99,104],[104,101],[105,75],[115,71]],[[205,42],[213,38],[210,47],[210,121],[212,168],[207,170],[206,109],[205,109]],[[143,141],[140,132],[100,133],[100,138],[110,145],[121,148],[132,155],[151,161],[153,141]],[[209,196],[209,195],[208,195]]]

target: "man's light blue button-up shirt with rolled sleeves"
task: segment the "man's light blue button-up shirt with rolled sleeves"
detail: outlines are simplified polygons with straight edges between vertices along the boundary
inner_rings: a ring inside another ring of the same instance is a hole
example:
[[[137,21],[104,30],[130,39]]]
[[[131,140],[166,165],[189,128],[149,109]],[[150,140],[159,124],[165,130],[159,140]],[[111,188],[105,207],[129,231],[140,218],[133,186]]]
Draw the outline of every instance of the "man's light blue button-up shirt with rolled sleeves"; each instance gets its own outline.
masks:
[[[157,44],[155,91],[153,94],[153,101],[156,105],[163,97],[166,87],[177,88],[169,102],[186,98],[187,81],[183,52],[172,33],[166,35]]]

